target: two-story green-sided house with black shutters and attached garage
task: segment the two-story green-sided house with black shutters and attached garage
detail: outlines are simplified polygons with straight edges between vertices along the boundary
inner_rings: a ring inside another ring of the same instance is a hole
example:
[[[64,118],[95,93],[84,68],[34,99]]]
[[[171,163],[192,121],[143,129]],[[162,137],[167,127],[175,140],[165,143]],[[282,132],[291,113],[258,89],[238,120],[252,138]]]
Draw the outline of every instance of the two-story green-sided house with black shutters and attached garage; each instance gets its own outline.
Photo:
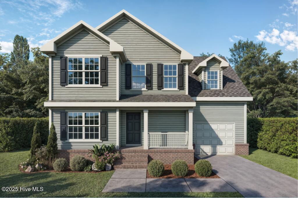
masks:
[[[96,28],[79,21],[41,51],[59,157],[87,156],[98,143],[133,159],[115,168],[248,154],[252,96],[224,57],[194,57],[125,10]]]

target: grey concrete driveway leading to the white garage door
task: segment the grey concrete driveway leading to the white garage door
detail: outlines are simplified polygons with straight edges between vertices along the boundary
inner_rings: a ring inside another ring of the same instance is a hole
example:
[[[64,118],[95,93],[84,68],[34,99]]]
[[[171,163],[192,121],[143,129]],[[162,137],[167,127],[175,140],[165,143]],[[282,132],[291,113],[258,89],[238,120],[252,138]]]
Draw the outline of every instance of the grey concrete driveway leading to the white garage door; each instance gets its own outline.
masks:
[[[237,155],[209,155],[213,171],[244,197],[298,197],[298,181]]]

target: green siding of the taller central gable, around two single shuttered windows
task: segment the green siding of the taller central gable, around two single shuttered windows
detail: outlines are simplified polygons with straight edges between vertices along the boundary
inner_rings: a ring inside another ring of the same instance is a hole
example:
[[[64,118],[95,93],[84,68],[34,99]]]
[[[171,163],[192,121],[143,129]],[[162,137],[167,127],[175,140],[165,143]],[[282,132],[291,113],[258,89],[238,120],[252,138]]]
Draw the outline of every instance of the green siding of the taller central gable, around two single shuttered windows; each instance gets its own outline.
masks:
[[[180,63],[180,54],[177,54],[126,18],[106,29],[103,34],[125,48],[128,62],[124,62],[121,66],[121,81],[123,83],[120,84],[120,87],[122,94],[185,94],[185,89],[179,91],[161,91],[157,89],[157,63]],[[153,89],[148,91],[125,89],[125,63],[152,63]],[[186,75],[185,67],[184,73]]]

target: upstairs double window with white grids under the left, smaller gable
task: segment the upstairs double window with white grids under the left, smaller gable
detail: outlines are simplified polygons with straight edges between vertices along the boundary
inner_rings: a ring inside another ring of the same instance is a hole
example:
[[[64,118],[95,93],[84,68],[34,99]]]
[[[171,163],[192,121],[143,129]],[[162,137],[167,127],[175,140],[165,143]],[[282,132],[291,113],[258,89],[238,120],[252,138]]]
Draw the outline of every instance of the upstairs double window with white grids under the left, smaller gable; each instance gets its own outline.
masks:
[[[68,85],[100,86],[99,57],[68,58]]]

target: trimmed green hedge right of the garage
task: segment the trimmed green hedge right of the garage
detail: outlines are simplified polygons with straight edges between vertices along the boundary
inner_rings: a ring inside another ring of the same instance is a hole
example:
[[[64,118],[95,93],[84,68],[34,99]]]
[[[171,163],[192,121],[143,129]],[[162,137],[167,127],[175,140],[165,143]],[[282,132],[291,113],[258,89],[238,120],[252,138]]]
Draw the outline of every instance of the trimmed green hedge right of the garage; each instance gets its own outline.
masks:
[[[297,158],[297,118],[247,119],[247,143],[251,147]]]

